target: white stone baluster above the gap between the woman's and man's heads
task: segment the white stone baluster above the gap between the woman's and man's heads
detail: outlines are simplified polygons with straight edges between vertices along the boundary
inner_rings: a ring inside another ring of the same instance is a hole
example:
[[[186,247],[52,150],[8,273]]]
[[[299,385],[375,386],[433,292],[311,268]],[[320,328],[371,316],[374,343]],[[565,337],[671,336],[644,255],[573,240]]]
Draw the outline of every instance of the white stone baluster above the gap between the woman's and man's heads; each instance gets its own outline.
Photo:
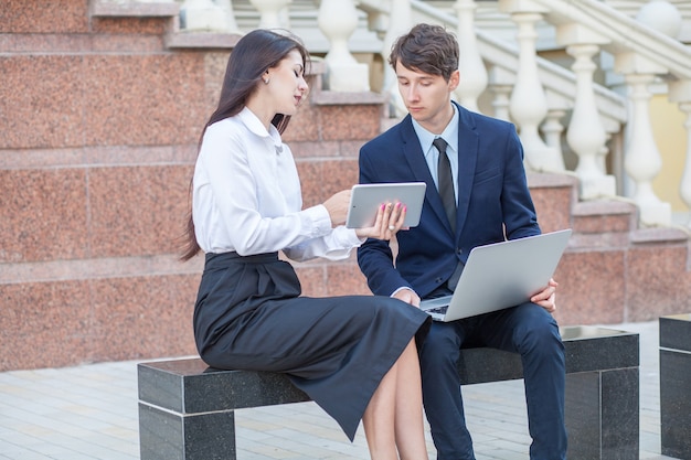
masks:
[[[329,89],[369,92],[369,67],[355,61],[348,49],[348,40],[358,28],[358,10],[353,1],[321,0],[317,24],[331,44],[325,56]]]

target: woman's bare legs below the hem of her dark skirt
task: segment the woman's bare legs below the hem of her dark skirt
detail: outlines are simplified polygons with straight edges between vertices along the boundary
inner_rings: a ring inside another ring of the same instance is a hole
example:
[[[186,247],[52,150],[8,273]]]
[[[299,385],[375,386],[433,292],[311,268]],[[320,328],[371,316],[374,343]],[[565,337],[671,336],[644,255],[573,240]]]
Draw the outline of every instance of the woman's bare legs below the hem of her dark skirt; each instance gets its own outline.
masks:
[[[427,460],[415,340],[384,375],[362,417],[372,460]]]

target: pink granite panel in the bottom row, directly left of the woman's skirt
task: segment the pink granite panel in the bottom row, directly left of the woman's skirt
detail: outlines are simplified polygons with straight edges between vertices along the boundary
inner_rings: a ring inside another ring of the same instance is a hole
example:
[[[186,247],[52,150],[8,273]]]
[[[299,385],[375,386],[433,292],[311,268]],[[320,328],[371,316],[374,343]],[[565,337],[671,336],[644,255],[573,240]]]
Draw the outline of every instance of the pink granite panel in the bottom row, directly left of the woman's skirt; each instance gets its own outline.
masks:
[[[95,360],[195,354],[198,287],[198,276],[182,275],[94,280]]]

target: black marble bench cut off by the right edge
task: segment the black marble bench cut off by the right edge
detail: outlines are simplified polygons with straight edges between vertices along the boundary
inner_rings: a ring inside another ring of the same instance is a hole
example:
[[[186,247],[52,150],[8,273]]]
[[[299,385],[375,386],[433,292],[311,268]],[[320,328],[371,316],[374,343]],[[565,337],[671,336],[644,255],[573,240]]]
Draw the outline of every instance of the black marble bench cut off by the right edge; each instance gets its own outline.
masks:
[[[661,450],[691,459],[691,313],[661,317],[659,328]]]

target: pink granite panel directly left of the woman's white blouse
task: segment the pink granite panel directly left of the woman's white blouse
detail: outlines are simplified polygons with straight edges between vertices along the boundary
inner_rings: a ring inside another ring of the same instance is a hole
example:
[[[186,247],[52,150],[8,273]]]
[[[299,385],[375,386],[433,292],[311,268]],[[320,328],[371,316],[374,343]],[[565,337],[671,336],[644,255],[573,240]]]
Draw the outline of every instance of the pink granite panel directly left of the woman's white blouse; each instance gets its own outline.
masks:
[[[191,167],[95,168],[89,172],[95,257],[176,253]]]

